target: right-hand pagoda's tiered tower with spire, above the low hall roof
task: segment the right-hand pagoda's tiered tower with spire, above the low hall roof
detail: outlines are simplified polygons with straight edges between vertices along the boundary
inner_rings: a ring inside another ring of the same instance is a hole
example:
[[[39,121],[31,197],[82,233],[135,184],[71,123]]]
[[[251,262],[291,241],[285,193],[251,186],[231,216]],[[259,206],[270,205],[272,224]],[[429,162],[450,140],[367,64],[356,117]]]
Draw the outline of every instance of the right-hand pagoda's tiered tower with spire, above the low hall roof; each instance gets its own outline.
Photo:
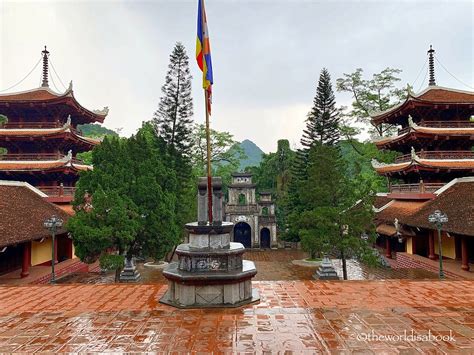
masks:
[[[372,116],[375,125],[400,126],[396,136],[375,144],[402,155],[393,164],[373,161],[379,174],[403,182],[391,186],[394,193],[432,192],[474,173],[474,93],[436,86],[433,53],[428,51],[429,86],[419,94],[409,92],[403,103]]]

